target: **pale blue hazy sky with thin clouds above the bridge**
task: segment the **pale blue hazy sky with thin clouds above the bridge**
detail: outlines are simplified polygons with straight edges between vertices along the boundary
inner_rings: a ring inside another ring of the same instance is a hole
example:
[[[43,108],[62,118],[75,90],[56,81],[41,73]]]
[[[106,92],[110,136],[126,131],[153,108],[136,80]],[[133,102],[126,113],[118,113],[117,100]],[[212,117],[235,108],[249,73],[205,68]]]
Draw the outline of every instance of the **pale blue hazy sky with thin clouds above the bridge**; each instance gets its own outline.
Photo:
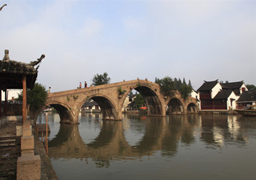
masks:
[[[0,0],[0,59],[45,54],[37,82],[51,92],[92,84],[244,80],[256,85],[255,0]],[[2,56],[2,57],[1,57]]]

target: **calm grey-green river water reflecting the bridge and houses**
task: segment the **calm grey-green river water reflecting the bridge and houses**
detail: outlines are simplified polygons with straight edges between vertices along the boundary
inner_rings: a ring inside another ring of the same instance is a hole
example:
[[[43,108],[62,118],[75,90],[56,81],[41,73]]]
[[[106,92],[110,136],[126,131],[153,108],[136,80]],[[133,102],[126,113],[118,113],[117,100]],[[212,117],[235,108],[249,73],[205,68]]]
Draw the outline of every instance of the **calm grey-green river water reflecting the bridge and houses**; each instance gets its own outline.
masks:
[[[48,114],[49,157],[59,179],[255,179],[256,118],[238,115]],[[45,123],[45,115],[38,117]]]

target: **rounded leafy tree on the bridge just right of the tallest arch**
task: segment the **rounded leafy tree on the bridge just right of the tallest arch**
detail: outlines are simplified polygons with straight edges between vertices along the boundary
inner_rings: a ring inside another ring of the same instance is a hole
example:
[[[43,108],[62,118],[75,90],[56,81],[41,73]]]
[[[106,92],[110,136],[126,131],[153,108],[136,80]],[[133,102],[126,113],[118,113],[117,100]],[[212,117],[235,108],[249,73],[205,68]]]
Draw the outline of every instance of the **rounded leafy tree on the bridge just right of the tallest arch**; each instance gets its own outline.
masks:
[[[164,96],[174,96],[174,80],[170,76],[158,80],[160,91]]]

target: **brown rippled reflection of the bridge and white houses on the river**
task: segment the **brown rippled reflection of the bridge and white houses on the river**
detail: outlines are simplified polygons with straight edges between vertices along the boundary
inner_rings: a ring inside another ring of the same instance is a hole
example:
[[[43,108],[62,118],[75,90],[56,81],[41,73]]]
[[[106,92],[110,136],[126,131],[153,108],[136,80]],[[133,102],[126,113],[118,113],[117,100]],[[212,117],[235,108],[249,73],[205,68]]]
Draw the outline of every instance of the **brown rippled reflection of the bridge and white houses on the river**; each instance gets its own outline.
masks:
[[[176,115],[175,119],[147,118],[142,139],[135,146],[126,141],[121,121],[102,121],[102,128],[93,142],[85,143],[79,135],[78,125],[61,124],[58,135],[49,143],[51,158],[92,158],[96,161],[108,159],[140,158],[161,151],[162,155],[173,156],[179,142],[187,145],[200,139],[214,147],[222,143],[246,141],[246,133],[235,116]],[[169,122],[168,122],[169,121]],[[219,126],[218,122],[224,121]],[[228,132],[222,131],[228,129]]]

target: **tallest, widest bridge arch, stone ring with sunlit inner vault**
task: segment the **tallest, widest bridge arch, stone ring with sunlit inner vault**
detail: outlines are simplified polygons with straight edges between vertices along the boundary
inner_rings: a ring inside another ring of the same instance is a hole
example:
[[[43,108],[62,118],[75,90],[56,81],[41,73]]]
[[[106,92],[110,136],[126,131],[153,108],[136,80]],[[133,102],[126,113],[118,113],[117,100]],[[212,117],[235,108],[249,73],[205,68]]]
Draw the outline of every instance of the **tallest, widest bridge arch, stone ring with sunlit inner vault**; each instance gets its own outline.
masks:
[[[130,90],[127,91],[124,96],[122,97],[122,103],[120,104],[122,109],[122,106],[124,104],[124,101],[126,100],[126,96],[132,91],[136,90],[139,92],[145,102],[146,102],[146,107],[147,107],[147,115],[155,115],[155,116],[165,116],[165,112],[163,111],[165,108],[162,106],[164,105],[164,100],[161,100],[161,96],[158,95],[158,88],[154,86],[150,86],[148,84],[136,84],[134,86],[130,87]]]

